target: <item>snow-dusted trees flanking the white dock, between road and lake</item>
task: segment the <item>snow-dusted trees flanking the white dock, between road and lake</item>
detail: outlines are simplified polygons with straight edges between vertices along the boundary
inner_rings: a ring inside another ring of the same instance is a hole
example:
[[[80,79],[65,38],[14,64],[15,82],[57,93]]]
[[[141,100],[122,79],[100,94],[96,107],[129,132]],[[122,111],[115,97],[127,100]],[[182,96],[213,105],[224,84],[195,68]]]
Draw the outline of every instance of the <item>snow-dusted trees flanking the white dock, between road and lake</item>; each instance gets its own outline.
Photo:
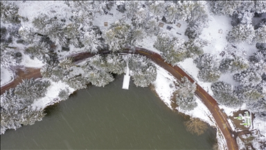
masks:
[[[157,76],[156,67],[145,56],[130,55],[129,67],[136,86],[147,87],[155,81]],[[41,74],[44,78],[64,81],[71,88],[79,90],[87,88],[87,84],[104,87],[114,81],[113,74],[123,74],[126,63],[120,54],[110,53],[105,56],[95,55],[88,58],[82,65],[74,65],[70,58],[65,58],[60,63],[44,65]],[[77,74],[77,72],[79,72]]]

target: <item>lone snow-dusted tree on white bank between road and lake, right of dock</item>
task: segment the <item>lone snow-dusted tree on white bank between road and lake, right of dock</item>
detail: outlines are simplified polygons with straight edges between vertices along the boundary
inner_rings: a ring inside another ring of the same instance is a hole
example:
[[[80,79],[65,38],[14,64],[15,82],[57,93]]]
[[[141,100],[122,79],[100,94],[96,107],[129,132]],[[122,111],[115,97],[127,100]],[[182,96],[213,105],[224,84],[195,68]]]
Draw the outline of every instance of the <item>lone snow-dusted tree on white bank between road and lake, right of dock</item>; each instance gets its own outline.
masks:
[[[179,89],[175,91],[175,101],[181,110],[193,110],[197,107],[195,98],[195,90],[197,89],[195,83],[191,83],[185,76],[181,78],[178,85]]]

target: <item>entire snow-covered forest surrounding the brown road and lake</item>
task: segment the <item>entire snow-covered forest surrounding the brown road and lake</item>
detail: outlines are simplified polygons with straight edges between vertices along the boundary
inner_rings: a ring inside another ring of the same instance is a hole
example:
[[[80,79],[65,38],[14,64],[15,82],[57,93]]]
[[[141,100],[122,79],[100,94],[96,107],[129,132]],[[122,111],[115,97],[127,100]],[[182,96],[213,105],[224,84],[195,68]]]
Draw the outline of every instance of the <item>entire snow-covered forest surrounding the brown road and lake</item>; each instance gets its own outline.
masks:
[[[265,1],[1,1],[1,86],[16,66],[40,68],[43,76],[1,94],[1,134],[42,120],[46,106],[75,90],[104,87],[125,73],[127,61],[134,84],[148,87],[157,67],[121,54],[126,47],[159,53],[206,85],[224,109],[247,109],[265,124]],[[75,62],[71,56],[82,51],[95,55]],[[180,110],[197,107],[195,90],[182,78],[171,93]]]

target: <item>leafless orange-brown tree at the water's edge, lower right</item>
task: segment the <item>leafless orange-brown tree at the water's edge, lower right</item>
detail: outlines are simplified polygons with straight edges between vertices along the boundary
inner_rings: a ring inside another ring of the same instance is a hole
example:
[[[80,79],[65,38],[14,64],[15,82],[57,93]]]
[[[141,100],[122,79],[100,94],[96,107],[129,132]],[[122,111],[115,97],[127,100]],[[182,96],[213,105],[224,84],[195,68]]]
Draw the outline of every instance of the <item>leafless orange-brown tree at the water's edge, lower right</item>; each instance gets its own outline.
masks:
[[[186,125],[186,131],[189,131],[192,134],[201,135],[208,128],[205,122],[202,122],[199,118],[191,118],[189,121],[184,122]]]

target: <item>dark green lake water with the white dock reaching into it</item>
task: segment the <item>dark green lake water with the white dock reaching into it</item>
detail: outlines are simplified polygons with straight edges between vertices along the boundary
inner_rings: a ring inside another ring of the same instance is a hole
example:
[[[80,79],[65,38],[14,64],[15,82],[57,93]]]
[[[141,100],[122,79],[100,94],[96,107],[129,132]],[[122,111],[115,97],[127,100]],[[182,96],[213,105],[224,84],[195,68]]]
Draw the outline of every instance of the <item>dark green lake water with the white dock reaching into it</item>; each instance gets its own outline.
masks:
[[[79,90],[48,109],[42,122],[1,135],[1,149],[211,149],[215,130],[186,131],[149,88],[122,90],[123,76],[105,88]]]

